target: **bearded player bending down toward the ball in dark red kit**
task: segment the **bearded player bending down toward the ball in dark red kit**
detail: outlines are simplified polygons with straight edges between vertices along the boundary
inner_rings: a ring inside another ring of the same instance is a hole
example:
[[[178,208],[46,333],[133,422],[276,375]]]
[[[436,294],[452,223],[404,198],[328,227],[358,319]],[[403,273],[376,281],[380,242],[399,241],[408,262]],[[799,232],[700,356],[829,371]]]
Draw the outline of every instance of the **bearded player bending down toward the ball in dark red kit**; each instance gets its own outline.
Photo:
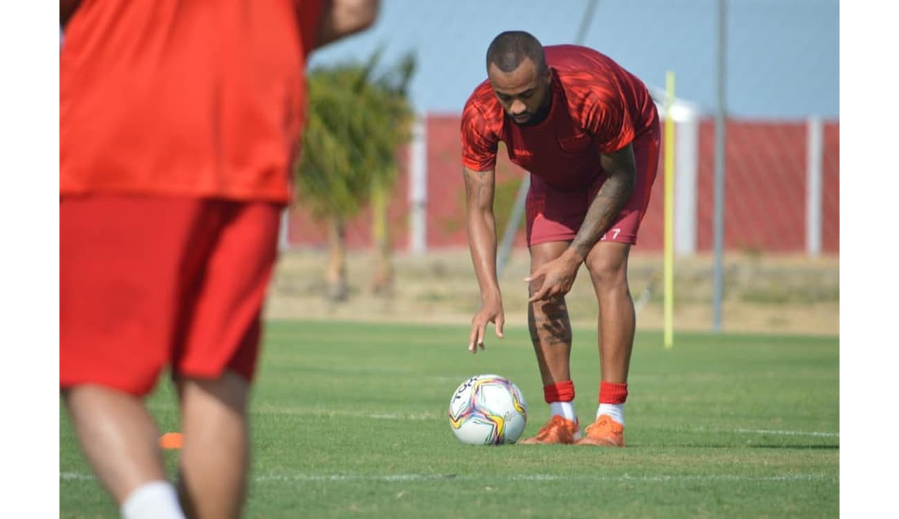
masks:
[[[527,32],[491,42],[487,80],[462,113],[467,231],[481,292],[468,350],[503,336],[493,213],[497,144],[530,172],[525,212],[530,248],[528,323],[551,419],[521,443],[624,446],[624,403],[634,340],[628,252],[636,244],[658,166],[660,128],[636,76],[596,50],[544,48]],[[601,383],[596,419],[583,434],[569,371],[565,294],[581,264],[599,305]]]

